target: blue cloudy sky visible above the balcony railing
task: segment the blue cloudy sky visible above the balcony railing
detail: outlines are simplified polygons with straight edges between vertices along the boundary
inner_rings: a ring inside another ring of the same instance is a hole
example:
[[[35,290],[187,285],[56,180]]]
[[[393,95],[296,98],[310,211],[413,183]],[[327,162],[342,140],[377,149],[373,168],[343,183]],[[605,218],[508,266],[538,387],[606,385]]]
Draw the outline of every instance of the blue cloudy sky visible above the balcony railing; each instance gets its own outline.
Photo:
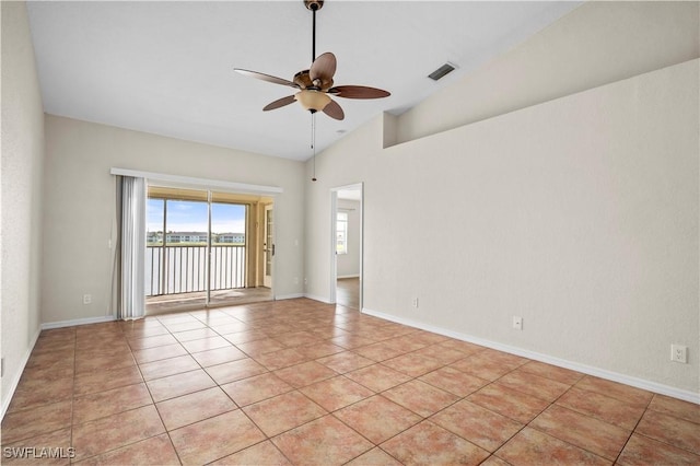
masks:
[[[163,230],[163,199],[148,199],[145,215],[149,232]],[[168,200],[165,229],[174,232],[206,232],[207,202]],[[245,206],[212,203],[211,231],[212,233],[245,233]]]

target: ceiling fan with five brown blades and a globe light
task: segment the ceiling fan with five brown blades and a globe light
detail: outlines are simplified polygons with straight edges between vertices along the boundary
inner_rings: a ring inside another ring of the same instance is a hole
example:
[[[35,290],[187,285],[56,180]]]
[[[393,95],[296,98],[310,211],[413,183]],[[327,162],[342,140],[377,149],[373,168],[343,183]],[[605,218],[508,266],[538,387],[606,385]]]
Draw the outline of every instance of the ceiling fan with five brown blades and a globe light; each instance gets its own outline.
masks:
[[[381,98],[389,96],[390,94],[384,90],[364,85],[334,86],[332,77],[336,73],[336,56],[327,51],[316,58],[316,12],[323,8],[324,0],[304,0],[304,5],[313,13],[312,63],[310,69],[298,72],[292,81],[288,81],[257,71],[234,68],[234,71],[241,74],[299,90],[294,95],[288,95],[269,103],[262,110],[273,110],[296,101],[312,114],[323,112],[331,118],[343,119],[345,113],[342,108],[336,101],[330,98],[330,95],[343,98]]]

